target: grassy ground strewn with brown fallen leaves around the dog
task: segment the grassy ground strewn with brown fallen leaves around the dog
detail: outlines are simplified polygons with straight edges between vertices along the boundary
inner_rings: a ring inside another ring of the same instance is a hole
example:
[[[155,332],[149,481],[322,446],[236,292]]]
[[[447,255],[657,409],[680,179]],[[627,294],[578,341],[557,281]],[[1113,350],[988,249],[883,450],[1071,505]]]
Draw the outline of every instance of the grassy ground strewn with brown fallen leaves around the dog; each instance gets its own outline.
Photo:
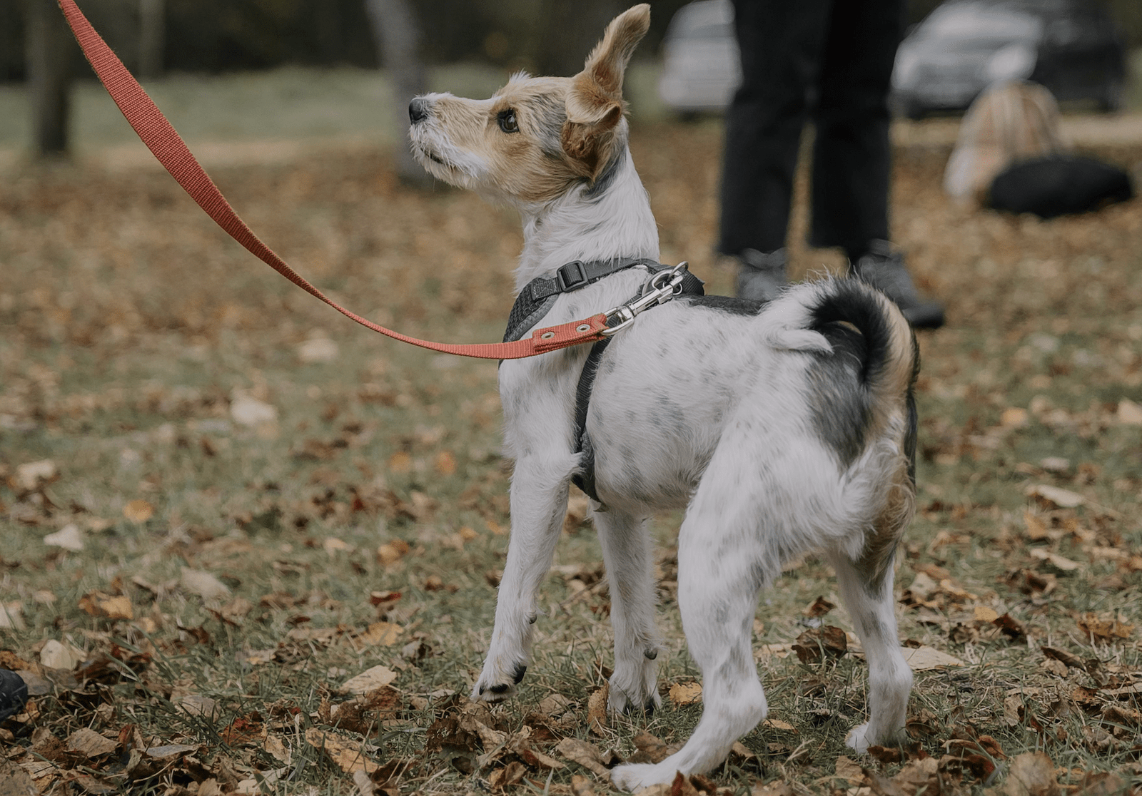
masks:
[[[922,138],[922,137],[920,137]],[[641,124],[664,261],[714,292],[721,129]],[[1096,154],[1136,166],[1142,143]],[[828,568],[755,623],[770,718],[671,794],[1142,787],[1142,206],[1044,222],[951,205],[898,149],[920,338],[919,511],[900,557],[909,742],[856,758],[866,667]],[[499,338],[512,213],[402,187],[386,153],[215,174],[250,226],[401,331]],[[804,220],[798,221],[803,225]],[[836,267],[796,247],[795,273]],[[494,363],[353,326],[153,168],[0,179],[0,794],[603,794],[685,740],[701,690],[656,523],[664,708],[609,718],[608,590],[572,501],[512,704],[466,695],[507,543]]]

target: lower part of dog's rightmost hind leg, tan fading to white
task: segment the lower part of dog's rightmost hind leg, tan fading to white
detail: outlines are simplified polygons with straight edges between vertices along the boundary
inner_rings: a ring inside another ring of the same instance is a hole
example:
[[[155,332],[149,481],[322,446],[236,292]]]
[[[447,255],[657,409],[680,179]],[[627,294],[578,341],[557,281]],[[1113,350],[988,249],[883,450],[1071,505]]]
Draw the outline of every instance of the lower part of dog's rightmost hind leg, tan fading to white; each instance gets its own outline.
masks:
[[[912,673],[896,637],[891,561],[876,575],[878,567],[852,561],[844,553],[835,553],[830,560],[837,571],[841,601],[868,658],[868,722],[854,728],[845,739],[851,748],[864,753],[874,744],[900,739]]]

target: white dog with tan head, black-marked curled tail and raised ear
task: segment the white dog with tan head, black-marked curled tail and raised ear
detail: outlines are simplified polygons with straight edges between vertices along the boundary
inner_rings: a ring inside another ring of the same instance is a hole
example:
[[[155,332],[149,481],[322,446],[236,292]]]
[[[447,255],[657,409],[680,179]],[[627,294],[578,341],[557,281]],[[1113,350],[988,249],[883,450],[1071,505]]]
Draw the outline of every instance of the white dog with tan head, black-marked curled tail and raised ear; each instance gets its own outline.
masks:
[[[428,94],[409,106],[412,151],[428,172],[520,211],[517,290],[568,263],[658,259],[622,100],[649,24],[649,5],[616,17],[573,78],[516,74],[490,99]],[[621,304],[646,279],[636,265],[557,293],[542,324]],[[914,510],[918,371],[898,308],[856,279],[827,278],[765,304],[679,295],[649,309],[598,357],[580,449],[587,357],[580,346],[500,366],[512,529],[472,697],[506,699],[522,680],[569,484],[592,457],[614,631],[609,709],[660,704],[646,527],[658,509],[686,509],[678,607],[702,673],[702,716],[685,746],[658,764],[617,766],[616,786],[709,771],[765,717],[750,641],[758,591],[811,550],[836,569],[869,661],[869,720],[846,742],[863,753],[896,739],[911,672],[896,636],[893,558]]]

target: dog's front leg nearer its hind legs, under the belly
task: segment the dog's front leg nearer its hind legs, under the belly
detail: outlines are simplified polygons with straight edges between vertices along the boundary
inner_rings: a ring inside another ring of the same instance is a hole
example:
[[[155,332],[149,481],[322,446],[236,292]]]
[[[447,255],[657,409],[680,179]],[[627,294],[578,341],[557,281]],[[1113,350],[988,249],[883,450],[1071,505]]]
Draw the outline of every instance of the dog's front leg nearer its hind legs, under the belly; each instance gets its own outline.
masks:
[[[651,710],[661,705],[658,682],[659,635],[654,624],[654,575],[646,517],[614,510],[594,512],[606,562],[614,630],[614,674],[608,707]]]

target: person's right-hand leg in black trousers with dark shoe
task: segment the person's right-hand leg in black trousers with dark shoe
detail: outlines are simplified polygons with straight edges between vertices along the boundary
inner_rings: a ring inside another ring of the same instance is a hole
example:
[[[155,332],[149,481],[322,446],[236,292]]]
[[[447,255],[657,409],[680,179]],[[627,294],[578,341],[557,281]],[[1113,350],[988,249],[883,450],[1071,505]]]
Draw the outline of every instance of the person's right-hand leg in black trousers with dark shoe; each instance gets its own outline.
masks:
[[[853,273],[880,289],[917,327],[943,325],[943,307],[916,292],[888,244],[888,87],[903,29],[903,0],[834,6],[814,107],[815,246],[841,246]]]

